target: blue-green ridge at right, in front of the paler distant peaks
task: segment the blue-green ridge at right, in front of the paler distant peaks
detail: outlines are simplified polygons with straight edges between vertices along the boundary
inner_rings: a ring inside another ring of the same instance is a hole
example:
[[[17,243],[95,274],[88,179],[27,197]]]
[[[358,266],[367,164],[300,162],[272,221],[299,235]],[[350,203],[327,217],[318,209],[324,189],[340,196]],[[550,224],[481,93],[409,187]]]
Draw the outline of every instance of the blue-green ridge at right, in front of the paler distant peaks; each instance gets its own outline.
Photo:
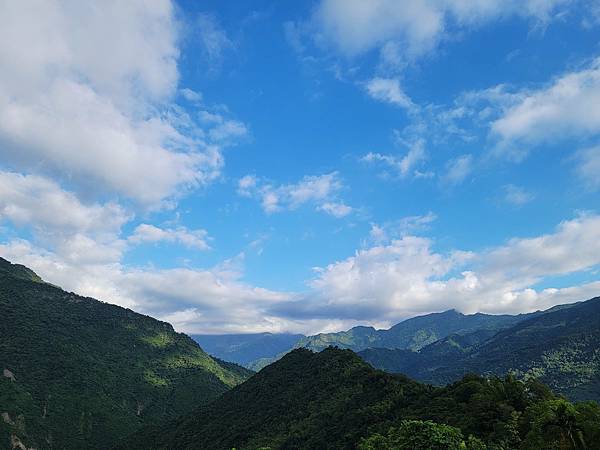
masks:
[[[535,377],[571,399],[600,400],[600,297],[560,306],[485,336],[450,336],[419,352],[368,349],[367,362],[445,384],[465,373]]]

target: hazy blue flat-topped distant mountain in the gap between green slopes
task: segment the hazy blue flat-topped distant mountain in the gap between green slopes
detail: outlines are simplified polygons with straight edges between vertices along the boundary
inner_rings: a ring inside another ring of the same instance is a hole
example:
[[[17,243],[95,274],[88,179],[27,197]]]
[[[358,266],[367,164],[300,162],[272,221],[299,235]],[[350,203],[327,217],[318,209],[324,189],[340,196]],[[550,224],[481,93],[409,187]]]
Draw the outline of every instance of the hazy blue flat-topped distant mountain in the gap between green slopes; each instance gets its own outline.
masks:
[[[248,367],[253,361],[273,358],[293,348],[303,334],[192,334],[190,335],[210,355]]]

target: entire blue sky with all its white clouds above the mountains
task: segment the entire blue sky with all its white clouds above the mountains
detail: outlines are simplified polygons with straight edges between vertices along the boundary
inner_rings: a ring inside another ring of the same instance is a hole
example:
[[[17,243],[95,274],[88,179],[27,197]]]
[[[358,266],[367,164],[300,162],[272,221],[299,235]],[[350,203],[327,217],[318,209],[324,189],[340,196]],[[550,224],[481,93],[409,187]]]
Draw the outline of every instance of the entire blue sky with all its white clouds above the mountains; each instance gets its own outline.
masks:
[[[600,295],[600,1],[0,0],[0,256],[189,333]]]

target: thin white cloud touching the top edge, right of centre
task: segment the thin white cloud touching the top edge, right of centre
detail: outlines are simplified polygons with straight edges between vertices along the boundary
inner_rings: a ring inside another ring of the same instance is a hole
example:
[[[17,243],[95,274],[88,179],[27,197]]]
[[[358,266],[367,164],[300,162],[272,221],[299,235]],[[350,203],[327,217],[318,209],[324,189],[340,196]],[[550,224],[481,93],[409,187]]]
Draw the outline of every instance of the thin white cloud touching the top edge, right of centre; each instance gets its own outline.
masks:
[[[402,48],[402,59],[435,48],[452,30],[481,26],[511,16],[551,20],[569,0],[321,0],[311,18],[317,42],[335,48],[345,56],[357,56],[390,44]],[[396,56],[396,59],[398,56]],[[389,59],[389,58],[388,58]]]

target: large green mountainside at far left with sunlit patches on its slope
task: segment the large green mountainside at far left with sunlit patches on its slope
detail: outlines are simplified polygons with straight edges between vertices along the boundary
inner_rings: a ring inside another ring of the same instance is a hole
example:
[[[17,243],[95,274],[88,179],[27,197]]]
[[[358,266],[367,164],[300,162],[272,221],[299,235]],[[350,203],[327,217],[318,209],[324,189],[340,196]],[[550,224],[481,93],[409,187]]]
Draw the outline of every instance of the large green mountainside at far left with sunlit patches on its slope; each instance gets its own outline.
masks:
[[[0,258],[0,448],[110,448],[250,375],[165,322]]]

